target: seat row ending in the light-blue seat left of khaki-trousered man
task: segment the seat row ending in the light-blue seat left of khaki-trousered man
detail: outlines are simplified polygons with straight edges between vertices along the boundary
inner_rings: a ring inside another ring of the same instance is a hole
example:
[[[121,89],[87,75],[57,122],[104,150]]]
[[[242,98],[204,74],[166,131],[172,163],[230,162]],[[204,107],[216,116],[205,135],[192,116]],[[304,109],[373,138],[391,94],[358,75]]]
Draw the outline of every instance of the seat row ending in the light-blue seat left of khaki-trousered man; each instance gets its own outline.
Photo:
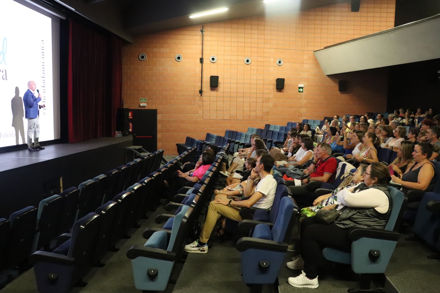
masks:
[[[187,244],[189,232],[198,226],[198,216],[211,197],[228,147],[226,144],[217,154],[216,160],[194,187],[184,188],[192,190],[190,195],[176,194],[174,200],[182,201],[182,204],[169,203],[165,207],[167,211],[176,209],[173,215],[159,214],[155,218],[156,223],[166,221],[165,225],[161,229],[147,228],[143,232],[143,237],[148,239],[145,245],[133,245],[127,251],[127,257],[132,260],[136,289],[165,290],[171,271]]]

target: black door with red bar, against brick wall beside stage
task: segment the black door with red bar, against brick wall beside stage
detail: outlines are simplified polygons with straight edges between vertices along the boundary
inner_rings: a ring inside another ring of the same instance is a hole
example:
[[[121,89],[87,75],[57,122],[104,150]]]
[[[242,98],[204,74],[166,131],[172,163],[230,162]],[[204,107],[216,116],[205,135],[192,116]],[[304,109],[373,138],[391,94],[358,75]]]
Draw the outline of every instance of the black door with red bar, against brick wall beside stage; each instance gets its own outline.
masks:
[[[158,110],[130,109],[133,145],[152,153],[158,150]]]

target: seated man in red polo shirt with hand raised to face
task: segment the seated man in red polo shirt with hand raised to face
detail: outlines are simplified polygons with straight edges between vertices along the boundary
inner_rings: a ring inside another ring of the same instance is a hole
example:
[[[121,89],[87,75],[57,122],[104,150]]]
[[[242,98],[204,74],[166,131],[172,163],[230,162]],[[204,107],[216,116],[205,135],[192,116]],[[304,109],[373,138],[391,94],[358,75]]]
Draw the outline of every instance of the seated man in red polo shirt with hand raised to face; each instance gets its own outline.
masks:
[[[289,186],[292,197],[300,205],[311,206],[315,200],[314,191],[318,189],[322,183],[332,183],[336,175],[337,161],[331,155],[331,147],[328,143],[319,145],[315,150],[312,165],[304,171],[310,174],[303,179],[301,186]]]

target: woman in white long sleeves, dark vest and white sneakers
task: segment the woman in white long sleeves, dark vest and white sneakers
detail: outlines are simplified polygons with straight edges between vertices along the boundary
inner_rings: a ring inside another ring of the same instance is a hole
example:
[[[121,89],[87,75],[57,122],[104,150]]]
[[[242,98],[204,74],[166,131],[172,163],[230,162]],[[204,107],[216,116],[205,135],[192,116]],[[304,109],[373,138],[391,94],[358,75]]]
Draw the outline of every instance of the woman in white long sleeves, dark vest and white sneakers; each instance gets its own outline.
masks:
[[[309,217],[301,223],[301,256],[289,262],[293,270],[303,270],[296,278],[288,278],[295,287],[317,288],[318,270],[323,260],[323,247],[351,252],[348,234],[360,228],[383,229],[391,213],[387,183],[389,170],[383,163],[373,163],[364,173],[364,183],[338,193],[337,209],[343,210],[334,223],[324,224]]]

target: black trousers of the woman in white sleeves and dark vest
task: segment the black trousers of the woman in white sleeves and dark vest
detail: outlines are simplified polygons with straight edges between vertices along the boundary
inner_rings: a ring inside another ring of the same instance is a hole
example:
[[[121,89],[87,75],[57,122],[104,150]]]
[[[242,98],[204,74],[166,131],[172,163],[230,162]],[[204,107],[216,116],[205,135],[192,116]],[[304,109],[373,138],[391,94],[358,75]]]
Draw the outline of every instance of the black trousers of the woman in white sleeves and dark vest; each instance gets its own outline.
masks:
[[[323,224],[309,217],[301,223],[301,256],[304,259],[304,273],[307,278],[318,277],[318,267],[325,262],[323,248],[330,247],[350,252],[352,242],[348,233],[356,227],[341,228],[336,224]]]

